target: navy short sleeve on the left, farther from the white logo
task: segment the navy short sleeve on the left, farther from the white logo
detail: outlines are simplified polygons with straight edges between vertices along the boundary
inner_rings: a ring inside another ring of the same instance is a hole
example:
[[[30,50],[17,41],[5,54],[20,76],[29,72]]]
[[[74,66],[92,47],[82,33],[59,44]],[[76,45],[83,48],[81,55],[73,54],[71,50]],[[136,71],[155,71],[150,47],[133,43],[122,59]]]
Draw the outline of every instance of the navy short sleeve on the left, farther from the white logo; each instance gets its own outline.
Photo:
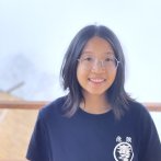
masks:
[[[30,161],[48,161],[48,151],[47,134],[39,112],[28,145],[26,159]]]

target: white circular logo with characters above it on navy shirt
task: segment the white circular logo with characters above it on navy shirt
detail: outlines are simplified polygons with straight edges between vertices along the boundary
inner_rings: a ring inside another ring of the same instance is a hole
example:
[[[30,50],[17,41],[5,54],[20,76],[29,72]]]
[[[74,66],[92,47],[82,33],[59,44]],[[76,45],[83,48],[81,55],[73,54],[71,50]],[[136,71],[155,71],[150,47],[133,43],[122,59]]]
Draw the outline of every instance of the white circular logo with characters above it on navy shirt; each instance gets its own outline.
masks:
[[[134,151],[131,147],[131,138],[126,137],[125,141],[122,140],[120,136],[116,137],[117,145],[114,148],[114,159],[115,161],[133,161]]]

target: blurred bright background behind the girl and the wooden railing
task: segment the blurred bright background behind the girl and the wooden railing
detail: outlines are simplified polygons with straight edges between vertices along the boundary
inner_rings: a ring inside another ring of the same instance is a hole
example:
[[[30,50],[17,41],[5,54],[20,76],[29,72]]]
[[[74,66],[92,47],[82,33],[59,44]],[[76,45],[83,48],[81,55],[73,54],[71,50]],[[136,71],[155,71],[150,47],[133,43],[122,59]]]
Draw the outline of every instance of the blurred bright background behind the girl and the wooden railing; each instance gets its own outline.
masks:
[[[160,8],[160,0],[0,0],[0,100],[64,95],[66,49],[81,27],[96,23],[112,28],[123,45],[127,92],[139,102],[161,102]],[[0,159],[25,158],[36,115],[0,110]],[[151,115],[161,138],[161,113]]]

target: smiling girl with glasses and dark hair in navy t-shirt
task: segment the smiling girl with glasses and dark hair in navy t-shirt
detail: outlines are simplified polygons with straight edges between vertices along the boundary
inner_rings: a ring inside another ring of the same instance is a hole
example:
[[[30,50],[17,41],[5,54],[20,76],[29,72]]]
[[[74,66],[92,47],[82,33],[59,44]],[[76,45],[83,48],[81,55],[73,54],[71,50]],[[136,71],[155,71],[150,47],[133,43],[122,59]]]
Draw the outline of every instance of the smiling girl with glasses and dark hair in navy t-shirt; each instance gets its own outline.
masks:
[[[61,78],[68,94],[39,111],[28,160],[161,161],[150,114],[124,89],[124,53],[110,28],[89,25],[74,36]]]

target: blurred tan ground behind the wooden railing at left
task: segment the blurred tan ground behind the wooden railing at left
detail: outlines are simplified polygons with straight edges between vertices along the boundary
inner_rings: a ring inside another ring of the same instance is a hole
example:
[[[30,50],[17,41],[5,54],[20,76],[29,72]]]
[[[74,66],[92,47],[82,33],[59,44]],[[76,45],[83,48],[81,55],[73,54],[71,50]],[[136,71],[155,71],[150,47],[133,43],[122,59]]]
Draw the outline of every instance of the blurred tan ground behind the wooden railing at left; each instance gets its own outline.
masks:
[[[21,100],[0,93],[0,101]],[[0,108],[0,161],[26,161],[26,149],[37,112],[37,110]]]

